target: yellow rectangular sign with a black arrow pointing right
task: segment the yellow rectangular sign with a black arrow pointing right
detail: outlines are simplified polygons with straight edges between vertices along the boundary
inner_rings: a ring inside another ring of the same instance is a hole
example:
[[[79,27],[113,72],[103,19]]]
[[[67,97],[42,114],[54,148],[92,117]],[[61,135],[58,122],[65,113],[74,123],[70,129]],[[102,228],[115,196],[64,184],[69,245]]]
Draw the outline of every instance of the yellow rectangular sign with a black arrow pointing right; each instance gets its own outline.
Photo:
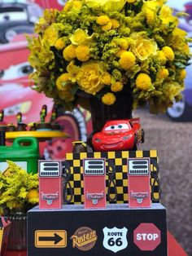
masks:
[[[67,232],[65,230],[37,230],[35,232],[35,246],[37,248],[66,247]]]

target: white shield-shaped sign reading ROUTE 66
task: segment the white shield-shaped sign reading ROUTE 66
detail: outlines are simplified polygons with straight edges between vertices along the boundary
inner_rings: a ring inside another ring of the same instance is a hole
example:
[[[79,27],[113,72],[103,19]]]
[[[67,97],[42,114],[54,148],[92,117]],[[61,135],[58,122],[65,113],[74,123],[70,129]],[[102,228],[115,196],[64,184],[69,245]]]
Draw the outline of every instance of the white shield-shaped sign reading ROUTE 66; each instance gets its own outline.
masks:
[[[127,232],[128,232],[128,229],[126,227],[123,227],[123,228],[104,227],[103,228],[103,234],[104,234],[103,246],[114,253],[126,248],[128,245]]]

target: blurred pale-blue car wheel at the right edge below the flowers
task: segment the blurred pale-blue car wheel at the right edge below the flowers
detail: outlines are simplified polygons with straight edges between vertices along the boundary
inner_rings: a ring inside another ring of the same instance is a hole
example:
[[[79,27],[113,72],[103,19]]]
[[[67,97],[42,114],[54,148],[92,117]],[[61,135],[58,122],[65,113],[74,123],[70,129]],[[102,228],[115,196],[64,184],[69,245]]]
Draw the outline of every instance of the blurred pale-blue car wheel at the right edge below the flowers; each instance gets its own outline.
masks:
[[[179,102],[174,102],[172,108],[167,110],[168,117],[172,121],[191,121],[192,120],[192,108],[186,103],[183,96]]]

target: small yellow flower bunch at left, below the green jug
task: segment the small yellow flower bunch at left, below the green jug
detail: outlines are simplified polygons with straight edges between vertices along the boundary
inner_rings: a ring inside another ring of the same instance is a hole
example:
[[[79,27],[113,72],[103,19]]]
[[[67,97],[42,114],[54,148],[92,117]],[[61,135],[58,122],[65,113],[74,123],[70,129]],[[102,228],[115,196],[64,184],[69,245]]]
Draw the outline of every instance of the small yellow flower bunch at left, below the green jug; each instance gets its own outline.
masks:
[[[6,172],[0,172],[0,211],[27,212],[38,203],[37,174],[28,174],[12,161]]]

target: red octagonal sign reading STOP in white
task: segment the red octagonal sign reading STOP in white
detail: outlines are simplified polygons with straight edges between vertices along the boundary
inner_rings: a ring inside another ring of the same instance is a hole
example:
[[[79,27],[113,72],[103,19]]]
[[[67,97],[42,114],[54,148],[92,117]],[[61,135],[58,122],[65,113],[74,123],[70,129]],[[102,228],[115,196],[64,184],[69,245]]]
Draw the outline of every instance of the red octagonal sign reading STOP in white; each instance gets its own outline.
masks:
[[[133,232],[133,241],[141,250],[154,250],[161,242],[161,232],[154,223],[141,223]]]

